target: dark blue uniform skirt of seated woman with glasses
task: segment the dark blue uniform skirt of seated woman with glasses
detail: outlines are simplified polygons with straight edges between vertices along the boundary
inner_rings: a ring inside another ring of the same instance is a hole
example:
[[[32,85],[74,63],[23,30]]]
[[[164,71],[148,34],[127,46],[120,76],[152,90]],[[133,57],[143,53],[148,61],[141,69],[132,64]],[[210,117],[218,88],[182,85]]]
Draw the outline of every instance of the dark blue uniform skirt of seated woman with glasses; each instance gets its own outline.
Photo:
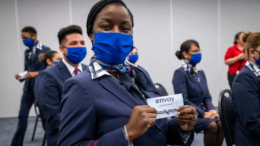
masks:
[[[217,122],[220,121],[219,117],[216,117],[215,119],[211,120],[211,119],[206,119],[206,118],[202,118],[202,117],[198,117],[198,121],[194,126],[194,132],[199,133],[203,130],[206,130],[207,126],[211,123],[211,122]]]

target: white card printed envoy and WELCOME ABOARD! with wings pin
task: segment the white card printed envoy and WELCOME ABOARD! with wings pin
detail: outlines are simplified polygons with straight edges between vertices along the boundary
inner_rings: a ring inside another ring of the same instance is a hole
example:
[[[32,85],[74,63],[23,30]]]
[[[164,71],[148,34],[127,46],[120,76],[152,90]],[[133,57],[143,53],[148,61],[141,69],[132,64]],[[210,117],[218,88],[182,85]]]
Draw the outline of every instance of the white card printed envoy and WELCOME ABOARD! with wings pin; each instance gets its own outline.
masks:
[[[175,116],[178,112],[176,108],[184,105],[182,94],[148,98],[147,103],[159,111],[156,119]]]

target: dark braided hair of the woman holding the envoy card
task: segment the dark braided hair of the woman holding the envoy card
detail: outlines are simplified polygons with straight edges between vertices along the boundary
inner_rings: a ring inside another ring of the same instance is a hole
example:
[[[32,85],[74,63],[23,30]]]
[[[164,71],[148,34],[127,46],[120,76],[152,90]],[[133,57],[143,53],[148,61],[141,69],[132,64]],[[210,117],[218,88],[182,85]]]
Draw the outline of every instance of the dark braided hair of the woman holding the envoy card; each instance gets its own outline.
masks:
[[[123,7],[125,7],[131,17],[131,21],[132,21],[132,27],[134,27],[134,19],[133,19],[133,15],[131,13],[131,11],[127,8],[126,4],[121,1],[121,0],[101,0],[99,2],[97,2],[91,9],[90,12],[88,14],[88,19],[87,19],[87,34],[89,36],[90,32],[93,29],[93,24],[94,21],[97,17],[97,14],[106,6],[109,4],[114,4],[114,5],[121,5]]]

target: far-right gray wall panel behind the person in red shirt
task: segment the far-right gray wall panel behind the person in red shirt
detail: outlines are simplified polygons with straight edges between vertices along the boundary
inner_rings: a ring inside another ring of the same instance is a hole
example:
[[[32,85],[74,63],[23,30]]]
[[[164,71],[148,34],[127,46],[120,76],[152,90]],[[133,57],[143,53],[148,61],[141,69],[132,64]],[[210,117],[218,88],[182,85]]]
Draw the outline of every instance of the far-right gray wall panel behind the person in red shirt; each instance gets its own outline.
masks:
[[[237,32],[260,31],[260,1],[259,0],[220,0],[220,87],[228,85],[228,65],[224,65],[226,50],[233,45]]]

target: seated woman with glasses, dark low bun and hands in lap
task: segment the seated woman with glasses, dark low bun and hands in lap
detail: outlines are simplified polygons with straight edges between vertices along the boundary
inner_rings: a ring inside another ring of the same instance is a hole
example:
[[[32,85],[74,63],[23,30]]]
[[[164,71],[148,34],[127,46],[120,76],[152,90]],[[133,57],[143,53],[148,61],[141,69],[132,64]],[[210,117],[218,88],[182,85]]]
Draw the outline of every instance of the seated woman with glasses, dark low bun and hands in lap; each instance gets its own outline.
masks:
[[[211,102],[205,73],[196,67],[201,60],[200,52],[199,44],[195,40],[187,40],[181,44],[176,56],[184,62],[174,72],[172,84],[175,94],[182,93],[184,105],[195,107],[199,113],[194,131],[204,131],[204,145],[219,146],[224,139],[223,130],[218,112]]]

